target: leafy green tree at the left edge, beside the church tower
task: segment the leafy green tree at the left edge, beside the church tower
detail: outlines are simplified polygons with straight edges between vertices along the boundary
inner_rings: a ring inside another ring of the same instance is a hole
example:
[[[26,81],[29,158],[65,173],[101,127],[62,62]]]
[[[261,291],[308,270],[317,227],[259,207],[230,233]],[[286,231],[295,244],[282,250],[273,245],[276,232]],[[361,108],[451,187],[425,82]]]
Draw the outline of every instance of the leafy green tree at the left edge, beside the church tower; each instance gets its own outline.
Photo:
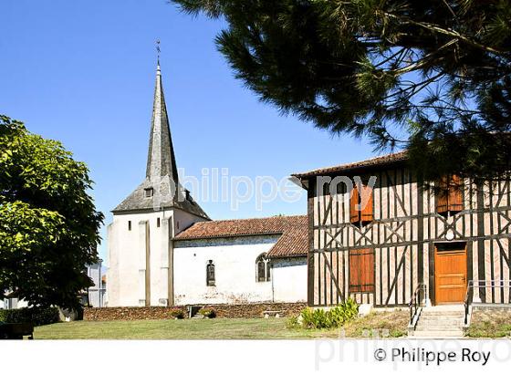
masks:
[[[14,290],[31,305],[78,306],[103,221],[91,185],[58,141],[0,116],[0,298]]]

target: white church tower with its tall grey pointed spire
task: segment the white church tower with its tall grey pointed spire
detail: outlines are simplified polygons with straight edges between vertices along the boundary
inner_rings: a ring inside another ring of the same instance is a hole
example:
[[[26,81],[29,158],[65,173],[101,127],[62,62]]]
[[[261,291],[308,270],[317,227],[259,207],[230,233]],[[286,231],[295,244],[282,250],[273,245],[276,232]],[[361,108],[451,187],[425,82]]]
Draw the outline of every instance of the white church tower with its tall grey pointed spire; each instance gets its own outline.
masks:
[[[108,306],[172,305],[172,238],[209,217],[179,183],[160,65],[146,178],[112,213]]]

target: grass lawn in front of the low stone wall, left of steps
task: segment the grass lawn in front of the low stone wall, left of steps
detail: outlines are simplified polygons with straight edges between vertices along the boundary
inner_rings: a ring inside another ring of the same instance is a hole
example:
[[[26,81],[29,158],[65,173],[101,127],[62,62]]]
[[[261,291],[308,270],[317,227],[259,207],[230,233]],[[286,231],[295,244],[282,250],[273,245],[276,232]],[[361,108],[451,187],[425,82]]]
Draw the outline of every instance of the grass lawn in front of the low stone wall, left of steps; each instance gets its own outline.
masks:
[[[400,336],[395,331],[404,331],[408,323],[398,317],[400,313],[357,318],[346,325],[346,336],[362,338],[363,328],[390,328],[391,336]],[[76,321],[36,327],[34,332],[36,339],[299,339],[342,335],[340,329],[288,328],[286,318]]]

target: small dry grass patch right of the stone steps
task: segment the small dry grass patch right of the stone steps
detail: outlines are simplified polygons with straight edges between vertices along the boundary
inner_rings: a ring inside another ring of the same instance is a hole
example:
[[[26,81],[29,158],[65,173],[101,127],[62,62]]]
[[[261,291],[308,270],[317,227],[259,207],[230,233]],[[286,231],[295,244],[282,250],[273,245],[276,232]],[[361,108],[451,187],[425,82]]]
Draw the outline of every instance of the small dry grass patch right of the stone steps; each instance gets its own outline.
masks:
[[[475,311],[466,335],[470,338],[505,338],[511,336],[511,311]]]

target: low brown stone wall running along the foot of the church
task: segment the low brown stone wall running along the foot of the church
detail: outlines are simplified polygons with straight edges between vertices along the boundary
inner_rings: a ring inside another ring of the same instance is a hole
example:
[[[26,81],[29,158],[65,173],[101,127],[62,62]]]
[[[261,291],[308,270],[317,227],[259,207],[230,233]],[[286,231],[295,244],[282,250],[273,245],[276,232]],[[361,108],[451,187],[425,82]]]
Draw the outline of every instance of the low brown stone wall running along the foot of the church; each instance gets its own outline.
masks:
[[[281,311],[282,316],[296,316],[307,306],[306,303],[266,303],[239,305],[207,305],[214,308],[219,318],[256,318],[263,317],[266,310]],[[174,306],[187,313],[186,306]],[[166,306],[130,306],[130,307],[86,307],[83,319],[88,321],[109,321],[137,319],[167,319],[173,307]]]

